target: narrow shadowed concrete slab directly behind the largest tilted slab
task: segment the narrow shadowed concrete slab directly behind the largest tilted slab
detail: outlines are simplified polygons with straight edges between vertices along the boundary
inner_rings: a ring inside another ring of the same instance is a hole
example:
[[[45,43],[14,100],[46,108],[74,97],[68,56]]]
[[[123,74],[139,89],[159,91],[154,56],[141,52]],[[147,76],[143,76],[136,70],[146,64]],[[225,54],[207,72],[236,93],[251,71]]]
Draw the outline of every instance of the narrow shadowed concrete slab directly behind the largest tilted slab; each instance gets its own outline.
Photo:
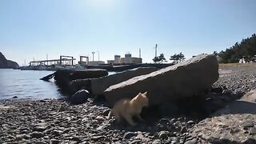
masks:
[[[119,82],[126,81],[130,78],[137,77],[139,75],[150,74],[158,70],[155,67],[139,67],[132,70],[126,70],[117,74],[112,74],[101,78],[92,78],[90,81],[90,88],[92,94],[103,94],[109,86],[115,85]]]

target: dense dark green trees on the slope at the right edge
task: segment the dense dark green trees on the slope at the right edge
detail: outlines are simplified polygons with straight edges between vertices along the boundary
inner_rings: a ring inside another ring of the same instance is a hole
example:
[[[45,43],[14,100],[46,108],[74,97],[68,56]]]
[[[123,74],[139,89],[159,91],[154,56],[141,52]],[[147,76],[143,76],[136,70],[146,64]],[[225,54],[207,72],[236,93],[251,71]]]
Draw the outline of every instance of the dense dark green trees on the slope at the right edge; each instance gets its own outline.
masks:
[[[256,35],[252,34],[250,38],[242,39],[242,42],[236,42],[226,51],[221,51],[218,56],[221,57],[222,63],[239,62],[244,58],[246,62],[255,61],[256,55]]]

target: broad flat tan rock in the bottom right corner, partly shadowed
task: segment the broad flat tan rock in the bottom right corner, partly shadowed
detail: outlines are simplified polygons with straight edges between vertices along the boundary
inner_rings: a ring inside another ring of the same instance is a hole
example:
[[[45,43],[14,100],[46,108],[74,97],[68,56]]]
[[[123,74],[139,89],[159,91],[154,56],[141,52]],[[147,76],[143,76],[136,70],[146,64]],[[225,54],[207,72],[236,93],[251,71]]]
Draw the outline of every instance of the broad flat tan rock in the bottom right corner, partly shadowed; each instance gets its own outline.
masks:
[[[256,90],[251,90],[199,122],[194,126],[192,135],[200,141],[212,143],[255,143],[255,100]]]

